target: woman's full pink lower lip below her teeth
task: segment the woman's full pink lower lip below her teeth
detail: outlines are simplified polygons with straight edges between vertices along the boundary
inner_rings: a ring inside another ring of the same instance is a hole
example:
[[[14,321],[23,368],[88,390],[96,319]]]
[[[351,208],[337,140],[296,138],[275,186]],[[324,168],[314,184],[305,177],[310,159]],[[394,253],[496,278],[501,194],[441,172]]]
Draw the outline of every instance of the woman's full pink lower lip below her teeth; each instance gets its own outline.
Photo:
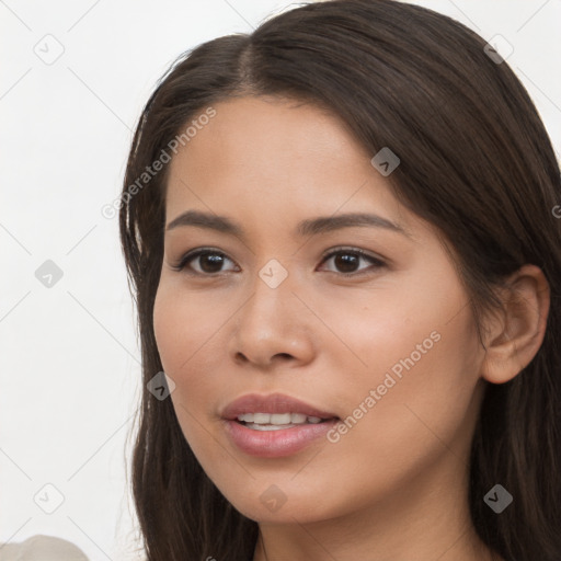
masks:
[[[233,444],[245,454],[261,458],[290,456],[329,433],[336,419],[323,423],[304,424],[278,431],[254,431],[238,423],[225,420],[226,432]]]

